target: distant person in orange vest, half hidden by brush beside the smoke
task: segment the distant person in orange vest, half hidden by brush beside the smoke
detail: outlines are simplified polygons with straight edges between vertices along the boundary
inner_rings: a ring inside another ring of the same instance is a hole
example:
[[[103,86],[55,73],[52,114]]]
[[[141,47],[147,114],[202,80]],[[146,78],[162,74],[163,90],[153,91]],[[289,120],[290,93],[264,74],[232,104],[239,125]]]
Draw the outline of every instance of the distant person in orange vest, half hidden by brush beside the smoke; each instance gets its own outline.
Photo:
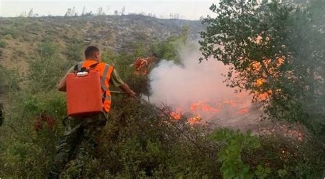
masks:
[[[136,75],[146,75],[149,73],[149,71],[152,69],[154,66],[155,62],[157,61],[158,57],[156,53],[153,53],[151,57],[147,58],[137,58],[136,61],[134,62],[134,74]]]

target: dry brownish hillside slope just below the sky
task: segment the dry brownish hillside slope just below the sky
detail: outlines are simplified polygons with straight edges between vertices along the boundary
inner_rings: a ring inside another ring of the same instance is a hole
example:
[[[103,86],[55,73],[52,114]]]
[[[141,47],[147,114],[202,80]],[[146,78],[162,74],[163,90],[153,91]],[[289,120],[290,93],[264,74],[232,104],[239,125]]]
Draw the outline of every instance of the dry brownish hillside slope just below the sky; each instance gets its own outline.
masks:
[[[71,45],[93,44],[104,51],[132,53],[136,42],[165,40],[188,27],[189,38],[197,39],[203,26],[200,21],[158,19],[149,16],[76,16],[40,18],[0,18],[0,64],[7,68],[27,70],[27,59],[33,58],[41,42],[58,45],[60,56],[67,59]],[[78,52],[82,56],[82,52]]]

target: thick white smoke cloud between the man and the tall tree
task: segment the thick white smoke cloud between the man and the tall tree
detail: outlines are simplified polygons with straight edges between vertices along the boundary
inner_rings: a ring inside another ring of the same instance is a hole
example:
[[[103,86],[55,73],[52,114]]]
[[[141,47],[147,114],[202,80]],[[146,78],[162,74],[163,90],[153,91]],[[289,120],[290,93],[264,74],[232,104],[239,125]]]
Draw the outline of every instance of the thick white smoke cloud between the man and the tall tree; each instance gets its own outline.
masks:
[[[180,64],[165,59],[160,61],[149,74],[150,101],[190,112],[193,102],[236,100],[236,109],[223,105],[214,118],[232,116],[240,109],[250,108],[252,97],[248,92],[235,94],[235,90],[223,82],[226,77],[221,74],[227,73],[228,66],[214,59],[199,63],[200,57],[198,48],[187,48],[180,51]],[[213,105],[210,102],[210,106]]]

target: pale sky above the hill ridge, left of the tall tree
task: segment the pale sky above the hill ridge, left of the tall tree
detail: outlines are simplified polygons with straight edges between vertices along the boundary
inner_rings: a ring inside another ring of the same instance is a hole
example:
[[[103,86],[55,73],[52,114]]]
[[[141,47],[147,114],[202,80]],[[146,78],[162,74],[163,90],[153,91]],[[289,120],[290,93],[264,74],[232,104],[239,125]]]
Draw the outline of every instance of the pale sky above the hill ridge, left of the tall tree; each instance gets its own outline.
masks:
[[[75,7],[78,14],[84,7],[86,12],[97,13],[100,7],[106,14],[114,14],[125,7],[125,14],[155,14],[157,18],[170,18],[170,14],[179,14],[182,19],[199,20],[201,16],[212,15],[208,8],[218,0],[0,0],[0,16],[19,16],[33,9],[40,16],[64,16],[68,8]]]

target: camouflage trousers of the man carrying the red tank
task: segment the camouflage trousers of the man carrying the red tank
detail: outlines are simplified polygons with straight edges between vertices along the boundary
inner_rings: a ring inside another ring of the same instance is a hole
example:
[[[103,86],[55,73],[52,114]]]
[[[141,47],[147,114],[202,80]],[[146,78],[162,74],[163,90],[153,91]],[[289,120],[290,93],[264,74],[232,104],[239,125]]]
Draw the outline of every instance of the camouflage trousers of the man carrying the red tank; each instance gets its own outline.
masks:
[[[64,135],[56,146],[56,157],[47,178],[59,178],[67,163],[73,160],[82,171],[84,165],[95,152],[97,139],[104,128],[107,114],[93,116],[69,117]]]

